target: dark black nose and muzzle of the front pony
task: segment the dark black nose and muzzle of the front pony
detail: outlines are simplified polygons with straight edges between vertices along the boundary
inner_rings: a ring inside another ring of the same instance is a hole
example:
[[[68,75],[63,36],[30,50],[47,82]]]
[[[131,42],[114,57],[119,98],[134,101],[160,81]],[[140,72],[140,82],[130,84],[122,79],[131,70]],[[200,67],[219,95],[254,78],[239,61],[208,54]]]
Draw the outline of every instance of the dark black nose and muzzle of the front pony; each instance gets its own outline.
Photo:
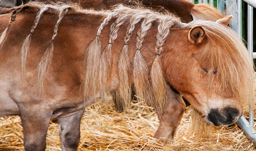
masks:
[[[223,110],[211,109],[207,115],[207,121],[215,126],[233,124],[242,114],[235,108],[224,108]]]

